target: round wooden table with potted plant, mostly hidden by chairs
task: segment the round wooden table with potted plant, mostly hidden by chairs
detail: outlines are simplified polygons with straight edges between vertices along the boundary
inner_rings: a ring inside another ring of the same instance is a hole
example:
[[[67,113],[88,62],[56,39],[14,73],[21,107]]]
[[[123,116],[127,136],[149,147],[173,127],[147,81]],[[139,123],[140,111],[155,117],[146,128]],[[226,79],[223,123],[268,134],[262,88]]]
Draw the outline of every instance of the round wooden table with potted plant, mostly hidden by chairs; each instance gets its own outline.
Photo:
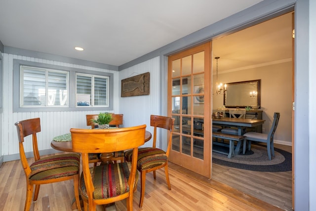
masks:
[[[70,134],[70,133],[68,133]],[[71,137],[71,136],[70,136]],[[145,142],[149,141],[152,138],[152,133],[150,131],[145,132]],[[71,140],[68,141],[55,141],[52,140],[50,143],[50,146],[53,149],[64,151],[64,152],[73,152],[73,145]],[[111,162],[111,159],[113,157],[113,153],[101,153],[101,160],[102,163],[108,164]]]

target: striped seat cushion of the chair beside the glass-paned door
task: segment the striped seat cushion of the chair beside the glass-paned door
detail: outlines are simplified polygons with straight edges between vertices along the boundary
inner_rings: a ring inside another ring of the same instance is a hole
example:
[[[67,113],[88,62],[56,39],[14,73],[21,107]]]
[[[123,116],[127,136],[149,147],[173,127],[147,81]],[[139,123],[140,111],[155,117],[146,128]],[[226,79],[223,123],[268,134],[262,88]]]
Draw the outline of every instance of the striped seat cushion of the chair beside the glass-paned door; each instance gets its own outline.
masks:
[[[133,151],[125,152],[127,162],[132,160]],[[165,164],[168,161],[166,153],[158,148],[145,147],[138,149],[137,169],[146,170]]]

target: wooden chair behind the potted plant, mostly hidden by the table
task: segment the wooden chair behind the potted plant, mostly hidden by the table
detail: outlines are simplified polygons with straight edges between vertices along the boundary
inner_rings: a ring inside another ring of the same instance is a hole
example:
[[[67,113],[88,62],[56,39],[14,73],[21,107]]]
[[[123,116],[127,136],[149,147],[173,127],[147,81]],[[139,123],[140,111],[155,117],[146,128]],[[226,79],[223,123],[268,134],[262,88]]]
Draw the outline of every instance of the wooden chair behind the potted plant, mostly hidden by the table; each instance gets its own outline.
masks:
[[[95,123],[93,123],[91,120],[96,120],[98,118],[98,114],[87,114],[85,115],[86,118],[86,124],[87,126],[91,126],[92,129],[95,128]],[[112,114],[113,120],[110,122],[110,127],[119,127],[120,125],[123,125],[123,115],[122,114]],[[95,165],[98,162],[101,162],[100,154],[90,154],[89,155],[89,161],[90,163],[94,163]],[[121,163],[124,162],[124,151],[114,152],[114,156],[112,158],[114,162],[120,161]]]

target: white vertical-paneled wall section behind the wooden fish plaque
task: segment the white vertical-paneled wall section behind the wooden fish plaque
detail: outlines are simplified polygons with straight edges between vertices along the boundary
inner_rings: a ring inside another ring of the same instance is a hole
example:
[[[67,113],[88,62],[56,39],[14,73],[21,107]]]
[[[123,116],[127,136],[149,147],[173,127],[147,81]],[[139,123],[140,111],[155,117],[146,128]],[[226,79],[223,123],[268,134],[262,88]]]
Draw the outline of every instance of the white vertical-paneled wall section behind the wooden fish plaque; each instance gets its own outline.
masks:
[[[159,113],[161,100],[159,57],[155,57],[120,71],[119,81],[147,72],[150,72],[150,94],[142,96],[120,97],[119,111],[121,114],[124,114],[124,127],[146,124],[146,129],[151,131],[153,134],[153,130],[150,126],[150,115],[161,115]],[[145,146],[152,146],[152,143],[152,140],[150,140],[149,142],[145,143]]]

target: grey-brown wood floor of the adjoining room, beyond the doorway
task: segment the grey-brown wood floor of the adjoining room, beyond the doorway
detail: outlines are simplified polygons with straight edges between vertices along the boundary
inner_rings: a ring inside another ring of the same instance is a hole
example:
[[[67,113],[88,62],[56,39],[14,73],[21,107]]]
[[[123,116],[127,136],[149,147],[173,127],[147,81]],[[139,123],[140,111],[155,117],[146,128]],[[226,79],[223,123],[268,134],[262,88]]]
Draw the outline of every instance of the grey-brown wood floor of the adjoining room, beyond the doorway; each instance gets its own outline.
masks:
[[[292,147],[275,144],[291,152]],[[260,172],[213,164],[212,178],[237,190],[268,202],[282,210],[292,211],[292,171]]]

